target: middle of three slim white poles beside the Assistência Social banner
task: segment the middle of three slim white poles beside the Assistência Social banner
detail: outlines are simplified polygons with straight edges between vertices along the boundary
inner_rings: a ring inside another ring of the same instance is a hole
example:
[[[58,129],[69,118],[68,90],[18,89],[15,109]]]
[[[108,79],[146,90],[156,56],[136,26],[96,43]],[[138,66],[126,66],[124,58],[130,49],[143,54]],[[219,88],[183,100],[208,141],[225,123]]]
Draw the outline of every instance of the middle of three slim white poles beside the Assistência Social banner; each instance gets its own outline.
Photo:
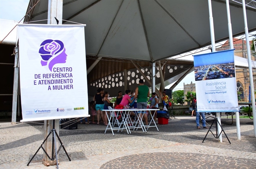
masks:
[[[227,6],[227,26],[228,26],[228,34],[230,39],[230,49],[234,49],[229,0],[226,0],[226,6]],[[236,133],[237,133],[237,139],[241,140],[239,112],[236,112]]]

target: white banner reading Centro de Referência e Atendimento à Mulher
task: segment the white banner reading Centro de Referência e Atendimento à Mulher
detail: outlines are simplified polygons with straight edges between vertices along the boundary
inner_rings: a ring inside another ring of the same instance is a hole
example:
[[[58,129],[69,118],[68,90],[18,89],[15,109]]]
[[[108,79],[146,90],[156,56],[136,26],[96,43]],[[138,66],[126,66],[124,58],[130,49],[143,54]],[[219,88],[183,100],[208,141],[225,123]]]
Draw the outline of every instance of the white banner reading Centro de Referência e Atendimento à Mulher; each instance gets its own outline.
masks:
[[[84,26],[18,24],[22,121],[88,116]]]

